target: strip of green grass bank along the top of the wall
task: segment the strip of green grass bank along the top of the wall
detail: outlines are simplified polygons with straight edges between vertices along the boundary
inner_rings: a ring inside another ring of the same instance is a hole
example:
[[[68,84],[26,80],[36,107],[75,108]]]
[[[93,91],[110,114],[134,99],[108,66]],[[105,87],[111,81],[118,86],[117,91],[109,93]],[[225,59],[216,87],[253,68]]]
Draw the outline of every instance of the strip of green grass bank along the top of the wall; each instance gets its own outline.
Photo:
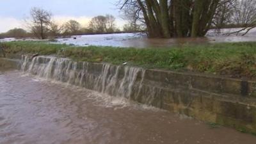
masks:
[[[7,54],[54,54],[76,61],[256,78],[256,42],[180,45],[166,48],[74,47],[44,42],[7,42]]]

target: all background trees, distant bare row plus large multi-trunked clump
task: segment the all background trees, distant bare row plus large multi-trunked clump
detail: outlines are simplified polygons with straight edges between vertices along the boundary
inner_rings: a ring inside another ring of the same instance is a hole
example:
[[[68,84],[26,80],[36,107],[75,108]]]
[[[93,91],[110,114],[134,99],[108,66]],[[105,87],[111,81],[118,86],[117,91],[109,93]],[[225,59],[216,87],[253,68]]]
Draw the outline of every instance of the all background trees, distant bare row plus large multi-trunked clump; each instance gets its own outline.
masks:
[[[124,32],[145,31],[150,38],[205,36],[209,29],[243,28],[232,33],[256,27],[255,0],[116,0],[122,17],[128,21]],[[120,33],[113,15],[93,17],[84,28],[76,20],[57,24],[52,13],[32,8],[26,20],[28,32],[12,29],[0,37],[49,38],[98,33]]]

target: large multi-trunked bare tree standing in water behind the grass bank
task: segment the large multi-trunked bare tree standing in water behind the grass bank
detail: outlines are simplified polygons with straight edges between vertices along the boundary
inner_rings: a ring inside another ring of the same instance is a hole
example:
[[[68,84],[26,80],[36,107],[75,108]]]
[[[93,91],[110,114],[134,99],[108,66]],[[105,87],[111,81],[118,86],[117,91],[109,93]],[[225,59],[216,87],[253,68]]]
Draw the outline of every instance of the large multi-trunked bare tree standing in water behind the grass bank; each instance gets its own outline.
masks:
[[[149,37],[204,36],[223,0],[120,0],[121,10],[128,10],[143,20]],[[129,10],[132,8],[132,10]]]

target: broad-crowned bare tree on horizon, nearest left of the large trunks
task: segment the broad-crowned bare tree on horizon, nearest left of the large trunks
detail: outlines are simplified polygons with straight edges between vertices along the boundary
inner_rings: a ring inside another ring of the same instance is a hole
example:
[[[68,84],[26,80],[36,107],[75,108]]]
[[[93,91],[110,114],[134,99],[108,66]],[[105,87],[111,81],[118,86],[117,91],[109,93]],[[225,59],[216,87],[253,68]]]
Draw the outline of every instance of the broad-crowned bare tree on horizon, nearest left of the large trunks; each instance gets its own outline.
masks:
[[[95,33],[113,33],[116,29],[113,15],[99,15],[90,21],[90,29]]]

